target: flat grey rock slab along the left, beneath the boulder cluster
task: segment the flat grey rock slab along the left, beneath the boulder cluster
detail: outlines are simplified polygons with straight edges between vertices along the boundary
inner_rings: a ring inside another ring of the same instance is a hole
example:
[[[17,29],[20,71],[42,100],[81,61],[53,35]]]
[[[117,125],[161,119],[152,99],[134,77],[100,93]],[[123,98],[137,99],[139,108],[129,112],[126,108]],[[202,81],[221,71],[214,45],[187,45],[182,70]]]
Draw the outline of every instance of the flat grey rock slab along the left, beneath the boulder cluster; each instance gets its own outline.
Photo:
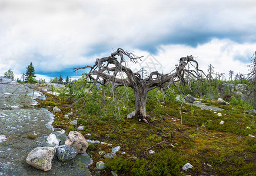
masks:
[[[22,109],[24,104],[33,103],[34,89],[3,80],[0,81],[0,175],[91,175],[88,164],[76,159],[62,163],[54,157],[51,170],[46,172],[26,163],[28,153],[42,147],[53,133],[54,116],[47,109]],[[11,108],[14,106],[19,108]],[[36,138],[30,139],[28,134]]]

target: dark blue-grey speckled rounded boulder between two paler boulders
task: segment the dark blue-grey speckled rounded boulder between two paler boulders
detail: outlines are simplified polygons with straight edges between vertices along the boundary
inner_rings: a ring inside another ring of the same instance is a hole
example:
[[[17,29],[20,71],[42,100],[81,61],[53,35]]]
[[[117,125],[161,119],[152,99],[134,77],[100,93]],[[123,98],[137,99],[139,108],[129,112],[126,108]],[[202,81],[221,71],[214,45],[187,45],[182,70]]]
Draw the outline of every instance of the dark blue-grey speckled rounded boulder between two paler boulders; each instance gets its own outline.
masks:
[[[68,161],[75,158],[77,155],[77,150],[75,150],[74,147],[71,147],[70,145],[61,145],[56,148],[56,155],[59,159],[59,161]]]

